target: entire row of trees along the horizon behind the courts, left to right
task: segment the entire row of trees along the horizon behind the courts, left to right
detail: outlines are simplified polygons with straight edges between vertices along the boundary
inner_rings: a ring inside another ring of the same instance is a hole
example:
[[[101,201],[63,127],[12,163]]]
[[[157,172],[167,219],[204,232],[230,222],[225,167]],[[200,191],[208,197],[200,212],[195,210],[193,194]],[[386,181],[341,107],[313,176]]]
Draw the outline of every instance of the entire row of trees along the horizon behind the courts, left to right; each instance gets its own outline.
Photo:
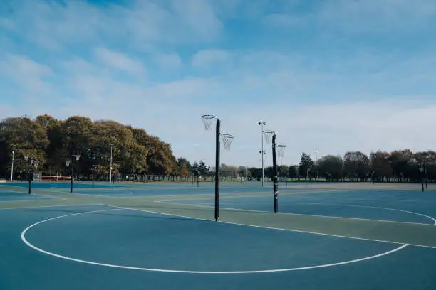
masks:
[[[111,145],[112,144],[112,145]],[[9,178],[14,152],[14,178],[28,172],[24,156],[32,154],[38,160],[36,172],[45,176],[69,176],[71,168],[66,160],[80,154],[73,164],[82,178],[95,174],[106,179],[110,172],[112,147],[113,174],[160,176],[213,176],[214,169],[204,161],[190,163],[176,159],[171,144],[145,129],[82,116],[58,120],[47,114],[34,119],[9,117],[0,122],[0,176]],[[419,170],[422,167],[422,173]],[[247,166],[220,166],[221,175],[258,179],[261,168]],[[264,168],[266,178],[272,177],[272,167]],[[326,181],[420,181],[422,177],[436,181],[436,152],[410,149],[374,151],[369,155],[348,151],[343,156],[327,155],[313,161],[301,154],[299,164],[278,166],[279,178],[323,179]]]

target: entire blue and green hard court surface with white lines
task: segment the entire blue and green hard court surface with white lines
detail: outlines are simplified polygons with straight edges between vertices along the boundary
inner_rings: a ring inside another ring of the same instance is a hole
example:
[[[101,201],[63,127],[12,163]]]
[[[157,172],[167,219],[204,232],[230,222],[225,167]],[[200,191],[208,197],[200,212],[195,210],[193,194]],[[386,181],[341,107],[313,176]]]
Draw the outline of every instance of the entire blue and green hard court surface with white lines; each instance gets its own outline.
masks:
[[[432,185],[78,184],[0,186],[0,289],[436,287]]]

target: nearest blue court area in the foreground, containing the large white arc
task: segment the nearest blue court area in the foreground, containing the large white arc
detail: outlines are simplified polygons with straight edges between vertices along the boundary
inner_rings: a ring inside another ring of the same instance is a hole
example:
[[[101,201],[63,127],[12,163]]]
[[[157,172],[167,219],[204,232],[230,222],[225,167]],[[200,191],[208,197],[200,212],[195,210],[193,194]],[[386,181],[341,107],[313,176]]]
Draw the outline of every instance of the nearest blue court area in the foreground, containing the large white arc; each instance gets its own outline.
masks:
[[[0,289],[435,289],[436,249],[104,205],[0,210]]]

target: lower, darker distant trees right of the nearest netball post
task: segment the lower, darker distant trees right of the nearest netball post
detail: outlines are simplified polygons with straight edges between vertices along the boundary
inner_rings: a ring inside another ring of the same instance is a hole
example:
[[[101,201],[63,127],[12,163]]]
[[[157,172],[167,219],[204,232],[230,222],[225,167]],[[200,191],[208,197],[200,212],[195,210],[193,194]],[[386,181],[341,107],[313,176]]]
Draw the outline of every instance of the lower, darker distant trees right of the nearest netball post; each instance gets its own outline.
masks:
[[[228,170],[232,168],[232,170]],[[264,168],[267,178],[273,176],[272,166]],[[422,169],[422,171],[420,170]],[[223,169],[222,169],[223,170]],[[224,172],[232,176],[259,179],[261,168],[225,166]],[[296,165],[278,166],[279,178],[323,179],[325,181],[436,181],[436,152],[412,152],[410,149],[373,151],[368,155],[361,151],[348,151],[344,156],[327,155],[313,161],[306,153]]]

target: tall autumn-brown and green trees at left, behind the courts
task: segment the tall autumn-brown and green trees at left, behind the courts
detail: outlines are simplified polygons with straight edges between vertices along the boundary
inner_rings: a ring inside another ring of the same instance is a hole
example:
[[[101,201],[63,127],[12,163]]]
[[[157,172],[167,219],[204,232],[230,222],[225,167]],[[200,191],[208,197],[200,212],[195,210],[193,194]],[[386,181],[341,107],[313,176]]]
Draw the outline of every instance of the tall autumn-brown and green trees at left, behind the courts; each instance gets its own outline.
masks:
[[[80,155],[73,163],[81,178],[91,174],[108,178],[110,151],[114,175],[177,175],[209,174],[203,161],[190,164],[185,158],[176,159],[171,144],[145,129],[123,125],[111,120],[91,121],[73,116],[58,120],[47,114],[34,119],[9,117],[0,122],[0,176],[9,178],[14,158],[14,178],[28,172],[25,156],[38,161],[35,172],[44,176],[69,176],[66,161]]]

